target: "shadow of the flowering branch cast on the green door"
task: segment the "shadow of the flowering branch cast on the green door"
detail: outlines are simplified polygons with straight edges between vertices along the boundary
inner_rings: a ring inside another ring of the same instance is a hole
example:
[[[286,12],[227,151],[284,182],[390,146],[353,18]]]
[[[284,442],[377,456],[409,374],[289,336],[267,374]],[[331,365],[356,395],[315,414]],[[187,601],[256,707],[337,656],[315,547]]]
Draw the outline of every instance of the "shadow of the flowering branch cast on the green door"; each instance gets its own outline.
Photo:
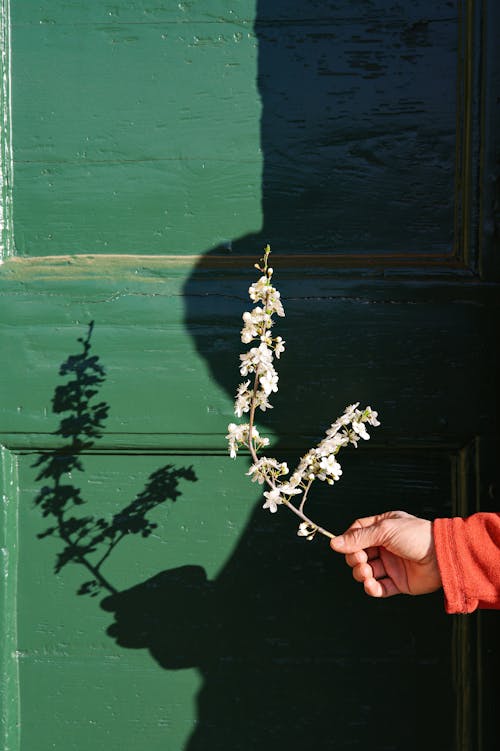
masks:
[[[102,437],[109,413],[109,405],[98,400],[106,375],[99,356],[91,353],[93,330],[92,321],[87,335],[78,338],[81,351],[70,355],[59,368],[59,375],[67,380],[56,387],[52,410],[63,415],[55,435],[64,439],[66,445],[40,454],[33,465],[40,468],[37,481],[46,481],[35,497],[35,505],[51,520],[38,538],[58,537],[63,542],[64,547],[56,557],[55,573],[68,563],[83,566],[91,578],[81,585],[78,594],[90,596],[102,590],[117,593],[102,573],[104,562],[128,535],[148,537],[157,524],[147,515],[167,500],[175,502],[179,498],[180,480],[197,479],[192,467],[167,464],[153,472],[136,498],[110,520],[75,513],[85,499],[81,489],[71,482],[72,474],[84,472],[83,454]]]

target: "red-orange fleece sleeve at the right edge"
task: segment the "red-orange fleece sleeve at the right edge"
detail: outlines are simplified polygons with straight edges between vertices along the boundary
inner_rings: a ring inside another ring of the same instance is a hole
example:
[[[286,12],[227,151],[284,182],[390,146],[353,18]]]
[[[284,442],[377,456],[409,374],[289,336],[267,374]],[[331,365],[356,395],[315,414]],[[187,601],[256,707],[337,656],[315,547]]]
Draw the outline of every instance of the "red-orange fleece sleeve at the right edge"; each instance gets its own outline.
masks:
[[[500,513],[436,519],[433,530],[446,612],[500,608]]]

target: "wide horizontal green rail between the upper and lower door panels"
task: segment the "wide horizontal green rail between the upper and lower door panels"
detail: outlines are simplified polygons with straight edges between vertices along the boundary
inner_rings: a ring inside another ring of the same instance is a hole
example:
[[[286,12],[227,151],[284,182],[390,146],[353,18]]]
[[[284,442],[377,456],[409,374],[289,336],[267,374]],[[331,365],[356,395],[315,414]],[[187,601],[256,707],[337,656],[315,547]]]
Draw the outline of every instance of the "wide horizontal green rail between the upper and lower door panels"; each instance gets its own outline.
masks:
[[[273,262],[278,282],[278,254]],[[45,263],[53,278],[38,281],[22,265],[4,266],[10,278],[0,294],[0,382],[9,393],[0,405],[4,431],[19,441],[23,434],[50,439],[58,364],[78,350],[76,340],[93,320],[112,403],[109,440],[137,434],[154,446],[171,435],[197,448],[220,447],[233,419],[241,315],[253,270],[216,277],[203,269],[148,271],[111,262],[85,278],[88,268]],[[277,438],[318,438],[354,400],[380,407],[384,441],[458,445],[494,431],[498,352],[489,343],[498,325],[496,288],[488,294],[473,282],[402,287],[321,274],[296,280],[285,270],[279,286],[287,316],[277,327],[287,353],[276,408],[260,416]]]

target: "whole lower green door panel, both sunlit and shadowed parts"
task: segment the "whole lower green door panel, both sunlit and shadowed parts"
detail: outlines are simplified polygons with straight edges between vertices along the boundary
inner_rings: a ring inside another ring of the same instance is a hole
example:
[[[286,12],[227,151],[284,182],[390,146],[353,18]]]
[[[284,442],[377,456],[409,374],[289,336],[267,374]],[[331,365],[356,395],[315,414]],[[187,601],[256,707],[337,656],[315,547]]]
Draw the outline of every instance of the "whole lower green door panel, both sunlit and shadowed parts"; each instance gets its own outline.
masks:
[[[58,477],[60,452],[10,458],[20,488],[11,531],[20,749],[36,739],[118,749],[141,733],[151,749],[247,749],[250,741],[270,749],[277,738],[295,749],[311,732],[339,749],[368,740],[375,749],[418,749],[427,734],[421,716],[439,719],[435,748],[453,748],[452,619],[441,595],[367,599],[326,543],[299,540],[286,513],[253,509],[259,492],[242,484],[245,459],[80,454],[81,470],[59,477],[59,488],[78,487],[84,503],[68,504],[61,526],[40,502]],[[342,524],[383,504],[448,512],[452,463],[443,451],[353,453],[345,484],[320,494],[319,512]],[[187,467],[193,475],[182,479]],[[175,500],[168,492],[162,499],[171,487],[158,480],[162,472],[180,477]],[[136,525],[157,525],[148,537],[132,531],[111,551],[96,542],[54,571],[76,519],[90,529],[81,550],[102,523],[123,529],[133,502]],[[106,552],[98,570],[108,586],[83,591],[93,575],[87,564]],[[388,706],[396,718],[389,737]]]

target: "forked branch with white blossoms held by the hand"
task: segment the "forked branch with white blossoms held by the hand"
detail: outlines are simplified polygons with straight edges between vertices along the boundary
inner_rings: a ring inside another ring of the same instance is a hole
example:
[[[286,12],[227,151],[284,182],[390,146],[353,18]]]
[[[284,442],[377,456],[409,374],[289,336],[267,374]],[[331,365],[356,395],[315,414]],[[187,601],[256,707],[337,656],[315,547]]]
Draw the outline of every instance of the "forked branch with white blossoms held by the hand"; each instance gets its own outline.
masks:
[[[240,447],[250,451],[253,464],[247,472],[253,482],[267,485],[264,492],[266,499],[263,508],[275,513],[278,506],[287,506],[301,523],[297,534],[312,540],[316,533],[326,537],[335,537],[332,532],[324,529],[310,519],[304,511],[309,490],[314,480],[322,480],[329,485],[339,480],[342,468],[337,461],[337,455],[341,448],[352,444],[356,447],[360,440],[370,438],[366,425],[380,425],[377,413],[371,407],[358,409],[359,403],[346,407],[343,415],[339,417],[326,431],[317,446],[310,449],[300,460],[297,468],[287,480],[289,469],[286,462],[278,462],[267,456],[259,458],[259,451],[269,445],[269,439],[259,435],[255,427],[255,412],[261,409],[272,409],[269,397],[278,391],[278,373],[274,367],[274,358],[279,360],[285,351],[285,342],[281,336],[272,336],[271,329],[274,325],[273,316],[285,315],[280,293],[273,287],[271,279],[273,269],[268,265],[271,248],[269,245],[264,250],[261,265],[256,263],[255,268],[261,276],[249,289],[250,299],[258,303],[252,311],[243,313],[243,329],[241,341],[243,344],[256,343],[248,352],[240,355],[240,373],[245,378],[253,375],[251,380],[245,380],[238,386],[234,404],[235,414],[241,418],[248,413],[247,424],[230,423],[226,436],[229,442],[229,453],[234,459]],[[302,495],[297,502],[292,500],[295,496]]]

